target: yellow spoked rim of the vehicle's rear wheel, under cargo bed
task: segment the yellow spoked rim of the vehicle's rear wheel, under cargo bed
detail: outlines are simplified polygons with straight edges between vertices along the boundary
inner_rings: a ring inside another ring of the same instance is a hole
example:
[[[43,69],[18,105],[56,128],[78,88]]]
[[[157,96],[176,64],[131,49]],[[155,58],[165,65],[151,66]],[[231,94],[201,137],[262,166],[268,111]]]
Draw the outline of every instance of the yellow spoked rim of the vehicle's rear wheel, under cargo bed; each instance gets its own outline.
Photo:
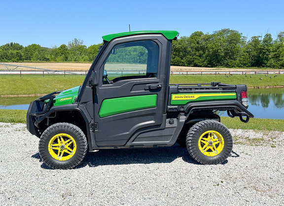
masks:
[[[224,148],[224,138],[220,133],[209,130],[199,137],[198,147],[204,155],[208,157],[216,156]]]

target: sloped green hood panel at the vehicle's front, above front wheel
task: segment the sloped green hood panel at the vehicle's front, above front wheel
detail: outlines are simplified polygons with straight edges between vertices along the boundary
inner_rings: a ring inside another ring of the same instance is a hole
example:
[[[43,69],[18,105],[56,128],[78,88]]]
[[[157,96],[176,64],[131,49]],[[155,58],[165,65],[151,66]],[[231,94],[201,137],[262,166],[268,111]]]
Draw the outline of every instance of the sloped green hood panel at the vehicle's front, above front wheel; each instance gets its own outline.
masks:
[[[64,90],[63,92],[59,93],[54,99],[53,104],[54,106],[70,104],[75,101],[75,98],[78,97],[79,87],[74,87],[68,90]],[[48,102],[48,100],[47,100]]]

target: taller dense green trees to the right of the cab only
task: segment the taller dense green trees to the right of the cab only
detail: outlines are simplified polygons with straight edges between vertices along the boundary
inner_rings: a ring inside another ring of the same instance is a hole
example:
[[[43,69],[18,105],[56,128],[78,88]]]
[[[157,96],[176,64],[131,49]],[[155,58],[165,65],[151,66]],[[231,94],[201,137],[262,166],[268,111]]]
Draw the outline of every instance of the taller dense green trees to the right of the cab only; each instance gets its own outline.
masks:
[[[172,65],[225,68],[284,68],[284,32],[274,40],[271,34],[249,40],[235,30],[213,34],[194,32],[173,42]]]

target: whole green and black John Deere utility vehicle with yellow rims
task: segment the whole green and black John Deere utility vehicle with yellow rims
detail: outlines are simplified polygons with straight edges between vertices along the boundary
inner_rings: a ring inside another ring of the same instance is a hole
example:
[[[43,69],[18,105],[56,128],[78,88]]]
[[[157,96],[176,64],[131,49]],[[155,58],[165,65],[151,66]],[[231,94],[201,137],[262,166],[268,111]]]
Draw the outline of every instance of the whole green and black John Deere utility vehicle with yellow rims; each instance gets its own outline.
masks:
[[[83,84],[30,104],[27,128],[53,169],[71,169],[87,150],[187,147],[201,164],[226,160],[233,147],[216,111],[248,122],[247,86],[220,82],[169,84],[176,31],[103,36]]]

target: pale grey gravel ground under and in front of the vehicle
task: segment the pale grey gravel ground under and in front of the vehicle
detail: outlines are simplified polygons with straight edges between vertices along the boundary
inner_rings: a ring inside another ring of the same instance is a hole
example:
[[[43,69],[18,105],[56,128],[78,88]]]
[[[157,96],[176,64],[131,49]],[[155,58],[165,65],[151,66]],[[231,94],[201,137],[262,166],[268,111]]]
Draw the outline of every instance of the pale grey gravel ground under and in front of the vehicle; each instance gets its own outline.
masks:
[[[220,165],[197,164],[176,144],[100,150],[51,170],[25,124],[0,123],[0,205],[284,205],[284,133],[231,133],[239,144]],[[251,146],[256,137],[268,144]]]

